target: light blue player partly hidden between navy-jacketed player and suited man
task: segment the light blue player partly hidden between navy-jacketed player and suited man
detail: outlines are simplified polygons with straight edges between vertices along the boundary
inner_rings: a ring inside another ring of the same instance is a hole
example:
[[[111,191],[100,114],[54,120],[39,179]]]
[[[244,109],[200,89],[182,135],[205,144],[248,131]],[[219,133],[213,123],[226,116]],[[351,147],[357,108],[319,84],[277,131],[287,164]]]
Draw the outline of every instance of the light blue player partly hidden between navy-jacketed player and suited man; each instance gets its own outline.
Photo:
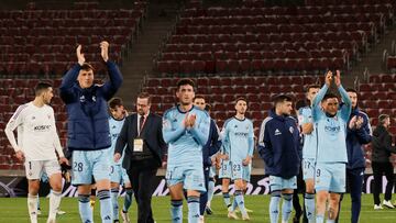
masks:
[[[110,181],[111,181],[111,202],[113,207],[113,221],[119,222],[118,196],[120,192],[120,185],[123,185],[125,188],[125,198],[121,211],[121,216],[123,219],[123,222],[130,222],[128,210],[132,204],[132,194],[133,194],[131,181],[127,175],[127,170],[122,168],[123,156],[117,161],[114,161],[113,159],[117,138],[125,121],[127,110],[123,105],[122,99],[120,98],[110,99],[109,110],[111,114],[109,118],[110,136],[111,136],[109,158],[111,159]]]

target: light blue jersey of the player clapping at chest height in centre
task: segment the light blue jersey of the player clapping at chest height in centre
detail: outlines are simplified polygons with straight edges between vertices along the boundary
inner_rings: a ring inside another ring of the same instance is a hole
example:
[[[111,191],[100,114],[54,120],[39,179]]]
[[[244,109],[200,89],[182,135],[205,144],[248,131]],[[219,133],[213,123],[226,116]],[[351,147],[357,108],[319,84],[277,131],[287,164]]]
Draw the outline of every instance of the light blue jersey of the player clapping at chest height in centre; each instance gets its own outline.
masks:
[[[186,115],[196,114],[194,127],[186,129]],[[164,113],[163,136],[168,144],[168,167],[200,165],[202,166],[202,146],[208,142],[210,116],[193,105],[188,112],[183,112],[176,105]]]

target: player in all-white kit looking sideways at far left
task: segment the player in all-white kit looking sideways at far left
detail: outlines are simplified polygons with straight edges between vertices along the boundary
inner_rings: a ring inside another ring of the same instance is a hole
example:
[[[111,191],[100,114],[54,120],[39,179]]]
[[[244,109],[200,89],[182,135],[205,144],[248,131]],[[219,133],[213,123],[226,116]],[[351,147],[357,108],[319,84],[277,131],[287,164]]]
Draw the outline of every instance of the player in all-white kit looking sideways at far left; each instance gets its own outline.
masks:
[[[32,223],[37,222],[37,193],[43,172],[50,177],[50,185],[53,190],[50,196],[47,222],[56,221],[56,212],[62,197],[59,163],[68,165],[56,132],[54,110],[48,105],[53,97],[53,88],[50,83],[37,83],[34,100],[20,105],[4,130],[15,150],[16,158],[24,161],[29,182],[28,209]],[[18,143],[13,134],[16,127]]]

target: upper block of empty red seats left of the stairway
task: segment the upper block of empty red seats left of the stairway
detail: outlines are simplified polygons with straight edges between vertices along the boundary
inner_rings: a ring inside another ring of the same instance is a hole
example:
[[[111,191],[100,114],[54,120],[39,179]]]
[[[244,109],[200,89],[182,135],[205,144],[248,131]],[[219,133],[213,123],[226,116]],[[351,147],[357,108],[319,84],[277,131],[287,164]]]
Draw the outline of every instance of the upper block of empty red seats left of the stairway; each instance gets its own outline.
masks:
[[[87,62],[103,73],[99,43],[108,41],[110,57],[122,57],[145,16],[145,1],[133,9],[97,9],[95,2],[76,2],[70,10],[0,10],[0,75],[2,77],[58,77],[75,63],[82,45]]]

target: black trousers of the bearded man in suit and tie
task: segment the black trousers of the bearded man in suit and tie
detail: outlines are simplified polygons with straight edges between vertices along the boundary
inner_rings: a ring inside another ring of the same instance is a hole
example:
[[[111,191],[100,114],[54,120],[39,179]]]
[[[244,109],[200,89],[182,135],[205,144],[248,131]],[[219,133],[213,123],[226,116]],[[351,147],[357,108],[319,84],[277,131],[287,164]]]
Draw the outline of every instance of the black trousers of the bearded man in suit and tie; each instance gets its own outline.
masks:
[[[138,223],[154,223],[151,202],[156,171],[157,167],[139,163],[127,170],[138,203]]]

